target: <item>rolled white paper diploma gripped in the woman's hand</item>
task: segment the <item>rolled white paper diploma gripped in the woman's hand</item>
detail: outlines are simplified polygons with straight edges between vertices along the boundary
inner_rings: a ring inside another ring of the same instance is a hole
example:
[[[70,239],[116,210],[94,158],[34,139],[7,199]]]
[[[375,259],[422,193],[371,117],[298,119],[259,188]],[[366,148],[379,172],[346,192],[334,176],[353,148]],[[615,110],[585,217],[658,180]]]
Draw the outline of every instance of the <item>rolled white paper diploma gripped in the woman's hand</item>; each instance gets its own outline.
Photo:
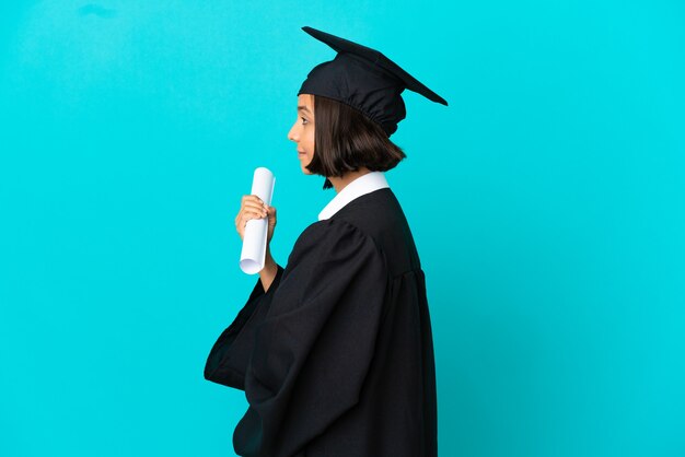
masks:
[[[274,174],[268,168],[260,166],[255,169],[251,194],[259,197],[270,207],[274,184],[276,184]],[[241,251],[241,270],[247,274],[258,273],[264,268],[268,223],[267,216],[264,219],[251,219],[245,224],[243,249]]]

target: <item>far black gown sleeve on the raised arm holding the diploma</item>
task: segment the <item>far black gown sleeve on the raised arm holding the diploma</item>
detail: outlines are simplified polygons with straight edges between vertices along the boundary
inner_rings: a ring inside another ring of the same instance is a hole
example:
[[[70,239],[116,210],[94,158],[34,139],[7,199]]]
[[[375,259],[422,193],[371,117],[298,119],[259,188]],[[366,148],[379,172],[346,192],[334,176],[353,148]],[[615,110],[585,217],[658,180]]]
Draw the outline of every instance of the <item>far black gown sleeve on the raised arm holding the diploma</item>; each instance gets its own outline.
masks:
[[[205,379],[245,390],[245,371],[254,347],[254,329],[264,320],[283,273],[283,268],[277,267],[268,291],[264,291],[262,281],[257,279],[247,303],[214,342],[205,364]]]

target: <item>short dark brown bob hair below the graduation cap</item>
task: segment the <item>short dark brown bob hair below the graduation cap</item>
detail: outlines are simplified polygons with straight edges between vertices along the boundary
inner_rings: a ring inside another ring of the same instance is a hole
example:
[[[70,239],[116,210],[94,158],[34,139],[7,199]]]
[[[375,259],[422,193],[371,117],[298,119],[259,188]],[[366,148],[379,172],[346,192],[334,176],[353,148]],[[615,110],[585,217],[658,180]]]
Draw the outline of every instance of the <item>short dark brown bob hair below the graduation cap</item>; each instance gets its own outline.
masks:
[[[328,176],[360,167],[385,172],[406,157],[379,124],[345,103],[314,96],[314,156],[306,169],[326,177],[324,189],[333,187]]]

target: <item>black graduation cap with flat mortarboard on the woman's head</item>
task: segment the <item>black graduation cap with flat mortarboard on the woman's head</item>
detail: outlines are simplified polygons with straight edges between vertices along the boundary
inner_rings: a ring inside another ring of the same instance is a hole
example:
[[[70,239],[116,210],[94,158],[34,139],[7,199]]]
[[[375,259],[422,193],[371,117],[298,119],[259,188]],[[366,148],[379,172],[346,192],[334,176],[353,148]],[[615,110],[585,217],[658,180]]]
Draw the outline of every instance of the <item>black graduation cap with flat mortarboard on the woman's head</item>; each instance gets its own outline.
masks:
[[[448,105],[444,98],[378,50],[316,28],[304,26],[302,30],[338,54],[310,71],[298,95],[321,95],[342,102],[380,124],[388,137],[406,117],[400,96],[405,89]]]

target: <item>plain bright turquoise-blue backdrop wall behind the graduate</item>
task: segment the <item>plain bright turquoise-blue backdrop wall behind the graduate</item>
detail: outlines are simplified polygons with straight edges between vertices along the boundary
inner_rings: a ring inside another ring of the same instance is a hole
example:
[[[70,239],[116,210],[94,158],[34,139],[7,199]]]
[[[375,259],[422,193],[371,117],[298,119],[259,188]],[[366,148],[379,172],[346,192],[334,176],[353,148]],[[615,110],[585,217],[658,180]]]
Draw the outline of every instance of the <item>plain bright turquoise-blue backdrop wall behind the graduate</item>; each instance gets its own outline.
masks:
[[[233,219],[276,176],[275,257],[333,198],[297,90],[382,50],[387,173],[433,320],[441,456],[685,455],[685,3],[86,1],[0,7],[0,455],[227,456],[211,344],[256,277]]]

